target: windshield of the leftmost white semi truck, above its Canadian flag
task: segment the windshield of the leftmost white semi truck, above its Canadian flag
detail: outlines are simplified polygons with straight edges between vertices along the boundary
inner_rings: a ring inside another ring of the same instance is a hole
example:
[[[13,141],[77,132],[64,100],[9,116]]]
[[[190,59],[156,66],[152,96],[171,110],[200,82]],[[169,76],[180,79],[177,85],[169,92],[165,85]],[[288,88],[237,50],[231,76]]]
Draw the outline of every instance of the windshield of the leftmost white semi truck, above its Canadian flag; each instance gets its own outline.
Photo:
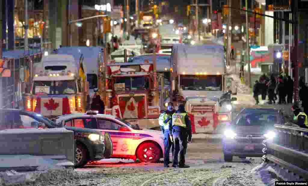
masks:
[[[46,93],[48,95],[76,94],[76,81],[34,81],[33,94],[38,93]]]

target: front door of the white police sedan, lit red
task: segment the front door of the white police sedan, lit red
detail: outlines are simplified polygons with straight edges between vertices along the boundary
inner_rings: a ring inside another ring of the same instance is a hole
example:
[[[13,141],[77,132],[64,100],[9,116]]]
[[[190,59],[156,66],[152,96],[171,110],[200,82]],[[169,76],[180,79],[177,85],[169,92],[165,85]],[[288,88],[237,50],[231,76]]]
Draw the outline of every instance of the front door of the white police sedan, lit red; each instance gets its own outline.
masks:
[[[113,143],[112,157],[132,154],[132,132],[114,120],[97,118],[98,129],[108,132]],[[134,153],[133,153],[134,154]]]

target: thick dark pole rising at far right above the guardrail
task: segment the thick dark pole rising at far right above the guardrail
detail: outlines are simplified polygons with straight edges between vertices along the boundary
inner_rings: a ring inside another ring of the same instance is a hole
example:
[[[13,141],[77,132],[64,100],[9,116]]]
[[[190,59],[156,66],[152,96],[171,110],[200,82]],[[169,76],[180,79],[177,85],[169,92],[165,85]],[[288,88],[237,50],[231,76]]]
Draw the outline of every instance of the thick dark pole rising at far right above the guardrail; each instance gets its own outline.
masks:
[[[294,1],[294,101],[298,101],[298,1]]]

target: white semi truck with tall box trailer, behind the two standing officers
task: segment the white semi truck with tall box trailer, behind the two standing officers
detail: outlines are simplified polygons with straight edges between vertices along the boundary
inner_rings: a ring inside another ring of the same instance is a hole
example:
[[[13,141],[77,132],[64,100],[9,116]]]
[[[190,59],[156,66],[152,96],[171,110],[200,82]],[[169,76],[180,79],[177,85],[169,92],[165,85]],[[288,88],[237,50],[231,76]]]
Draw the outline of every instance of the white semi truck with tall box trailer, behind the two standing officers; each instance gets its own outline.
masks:
[[[184,104],[193,133],[220,132],[231,121],[236,100],[231,98],[236,89],[227,84],[223,46],[175,44],[171,64],[169,100]]]

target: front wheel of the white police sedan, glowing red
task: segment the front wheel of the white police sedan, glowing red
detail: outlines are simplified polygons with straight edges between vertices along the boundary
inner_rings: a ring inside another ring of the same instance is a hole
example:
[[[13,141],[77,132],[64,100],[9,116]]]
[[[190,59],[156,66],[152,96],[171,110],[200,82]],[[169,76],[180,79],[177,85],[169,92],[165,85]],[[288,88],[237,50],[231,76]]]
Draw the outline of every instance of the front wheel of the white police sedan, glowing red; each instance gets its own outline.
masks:
[[[160,148],[152,142],[141,144],[137,149],[137,158],[141,162],[156,163],[160,158]]]

